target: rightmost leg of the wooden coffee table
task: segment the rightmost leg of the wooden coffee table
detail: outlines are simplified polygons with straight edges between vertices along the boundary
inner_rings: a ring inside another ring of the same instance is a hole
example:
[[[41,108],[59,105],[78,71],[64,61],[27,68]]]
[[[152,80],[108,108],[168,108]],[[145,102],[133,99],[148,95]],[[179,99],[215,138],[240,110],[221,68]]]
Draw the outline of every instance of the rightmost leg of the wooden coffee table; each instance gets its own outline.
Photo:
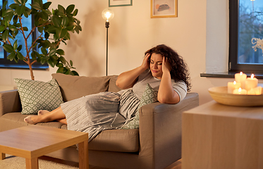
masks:
[[[87,140],[78,144],[79,168],[89,169]]]

